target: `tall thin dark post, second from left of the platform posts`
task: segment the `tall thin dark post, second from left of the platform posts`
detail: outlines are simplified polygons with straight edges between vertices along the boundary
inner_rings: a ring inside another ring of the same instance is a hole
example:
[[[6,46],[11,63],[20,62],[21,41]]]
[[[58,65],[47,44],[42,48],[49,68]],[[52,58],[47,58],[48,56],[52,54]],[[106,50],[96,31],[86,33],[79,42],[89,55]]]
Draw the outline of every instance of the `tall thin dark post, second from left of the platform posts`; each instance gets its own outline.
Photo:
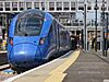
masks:
[[[97,9],[98,9],[98,7],[97,7],[97,0],[96,0],[96,4],[95,4],[95,38],[96,38],[96,40],[95,40],[95,51],[97,51]]]

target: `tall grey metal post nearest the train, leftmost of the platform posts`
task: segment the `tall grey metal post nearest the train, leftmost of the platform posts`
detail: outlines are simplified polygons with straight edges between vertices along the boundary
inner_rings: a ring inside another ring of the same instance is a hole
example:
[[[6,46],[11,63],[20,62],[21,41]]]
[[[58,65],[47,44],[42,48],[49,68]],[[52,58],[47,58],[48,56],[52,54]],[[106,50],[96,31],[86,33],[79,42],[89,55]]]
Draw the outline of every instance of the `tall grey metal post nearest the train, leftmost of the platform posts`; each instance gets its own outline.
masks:
[[[87,47],[86,47],[86,2],[84,4],[84,49],[87,50]]]

